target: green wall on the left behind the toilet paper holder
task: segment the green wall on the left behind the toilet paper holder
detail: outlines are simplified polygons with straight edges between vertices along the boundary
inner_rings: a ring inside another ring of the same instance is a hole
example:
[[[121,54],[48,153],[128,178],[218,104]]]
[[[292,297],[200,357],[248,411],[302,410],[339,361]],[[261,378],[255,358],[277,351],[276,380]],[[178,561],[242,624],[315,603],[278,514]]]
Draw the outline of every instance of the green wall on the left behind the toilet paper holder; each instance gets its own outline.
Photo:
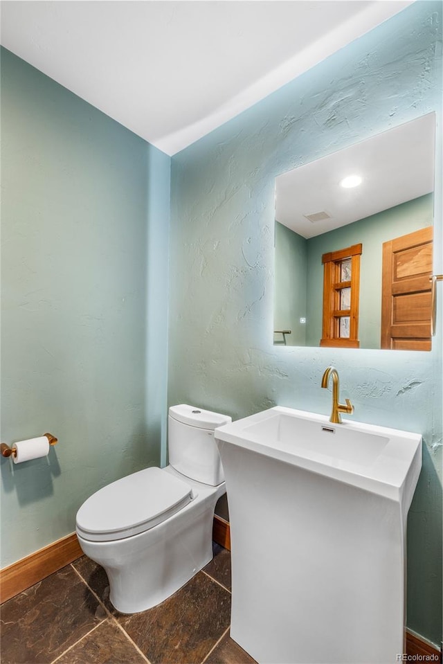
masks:
[[[1,458],[6,566],[159,463],[170,158],[4,49],[1,138],[1,440],[60,441]]]

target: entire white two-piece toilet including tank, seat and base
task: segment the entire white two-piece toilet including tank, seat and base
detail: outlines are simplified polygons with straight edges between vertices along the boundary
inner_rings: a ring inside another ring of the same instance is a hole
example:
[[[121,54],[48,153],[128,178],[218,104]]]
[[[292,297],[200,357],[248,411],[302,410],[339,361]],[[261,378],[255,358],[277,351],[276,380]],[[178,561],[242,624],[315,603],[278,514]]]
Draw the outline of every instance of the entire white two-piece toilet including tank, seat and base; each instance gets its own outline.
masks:
[[[80,546],[105,568],[121,613],[155,607],[212,559],[215,503],[226,490],[214,431],[228,422],[228,415],[172,406],[170,465],[123,477],[78,510]]]

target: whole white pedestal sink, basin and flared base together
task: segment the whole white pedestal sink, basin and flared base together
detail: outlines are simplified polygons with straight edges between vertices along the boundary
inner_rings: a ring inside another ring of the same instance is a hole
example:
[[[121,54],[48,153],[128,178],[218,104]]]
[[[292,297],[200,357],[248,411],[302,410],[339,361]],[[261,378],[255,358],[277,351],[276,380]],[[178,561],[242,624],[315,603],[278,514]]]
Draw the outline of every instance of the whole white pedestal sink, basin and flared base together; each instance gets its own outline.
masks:
[[[215,431],[230,636],[260,664],[393,664],[422,437],[275,407]]]

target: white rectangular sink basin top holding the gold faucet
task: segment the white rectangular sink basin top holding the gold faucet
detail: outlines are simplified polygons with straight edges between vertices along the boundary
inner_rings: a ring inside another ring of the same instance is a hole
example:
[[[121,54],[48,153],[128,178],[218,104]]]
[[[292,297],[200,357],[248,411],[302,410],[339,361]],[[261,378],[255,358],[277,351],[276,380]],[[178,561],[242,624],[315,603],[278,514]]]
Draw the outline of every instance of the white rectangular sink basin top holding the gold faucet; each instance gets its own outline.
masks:
[[[352,484],[409,508],[422,436],[275,406],[217,429],[219,440]],[[410,490],[412,488],[412,490]]]

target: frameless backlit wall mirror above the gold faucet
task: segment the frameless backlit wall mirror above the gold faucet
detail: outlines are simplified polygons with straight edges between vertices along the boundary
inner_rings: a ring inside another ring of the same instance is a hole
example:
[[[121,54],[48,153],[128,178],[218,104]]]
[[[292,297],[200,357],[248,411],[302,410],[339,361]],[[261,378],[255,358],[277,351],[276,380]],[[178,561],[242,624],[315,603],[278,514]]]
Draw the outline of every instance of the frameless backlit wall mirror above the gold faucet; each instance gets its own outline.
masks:
[[[431,350],[434,162],[431,113],[275,179],[275,344]]]

